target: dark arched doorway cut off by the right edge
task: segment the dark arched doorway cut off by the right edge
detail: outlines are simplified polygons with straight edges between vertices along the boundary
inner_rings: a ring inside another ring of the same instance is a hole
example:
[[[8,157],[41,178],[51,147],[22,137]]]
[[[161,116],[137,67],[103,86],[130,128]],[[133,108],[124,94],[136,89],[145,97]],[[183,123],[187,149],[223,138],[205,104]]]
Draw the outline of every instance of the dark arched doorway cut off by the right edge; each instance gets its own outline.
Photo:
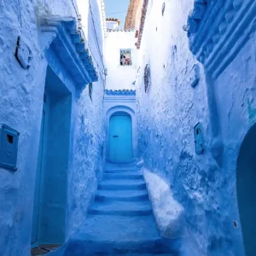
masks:
[[[247,132],[237,159],[236,189],[247,256],[256,254],[256,125]]]

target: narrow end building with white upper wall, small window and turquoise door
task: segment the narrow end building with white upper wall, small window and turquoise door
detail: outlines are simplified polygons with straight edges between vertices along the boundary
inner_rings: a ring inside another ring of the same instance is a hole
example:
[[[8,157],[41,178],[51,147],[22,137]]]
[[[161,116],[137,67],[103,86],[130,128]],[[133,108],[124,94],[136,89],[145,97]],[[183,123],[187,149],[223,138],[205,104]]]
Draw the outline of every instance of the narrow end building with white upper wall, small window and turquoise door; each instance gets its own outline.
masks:
[[[107,26],[109,22],[107,20]],[[106,161],[125,164],[137,160],[136,31],[108,29],[104,97]]]

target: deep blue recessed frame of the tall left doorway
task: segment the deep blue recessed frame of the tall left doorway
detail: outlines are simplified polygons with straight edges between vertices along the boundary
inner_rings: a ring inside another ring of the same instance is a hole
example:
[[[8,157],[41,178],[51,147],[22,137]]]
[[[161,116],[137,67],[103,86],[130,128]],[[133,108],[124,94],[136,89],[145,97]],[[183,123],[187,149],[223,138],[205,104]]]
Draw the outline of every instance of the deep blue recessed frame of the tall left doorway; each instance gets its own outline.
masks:
[[[72,113],[74,92],[73,90],[69,90],[69,86],[71,86],[72,83],[69,83],[67,80],[65,84],[60,78],[62,77],[61,74],[62,73],[56,73],[51,65],[47,67],[44,84],[44,94],[46,95],[47,104],[44,103],[42,114],[44,110],[44,112],[48,112],[48,115],[44,120],[44,129],[46,132],[44,133],[43,141],[42,171],[40,173],[40,180],[35,184],[40,183],[41,186],[38,196],[38,237],[37,241],[33,240],[31,242],[32,248],[37,247],[39,244],[62,244],[67,236],[67,178],[68,170],[70,170],[72,162],[72,127],[74,120]],[[66,114],[59,118],[60,113],[63,111],[65,111]],[[53,137],[56,139],[52,139]],[[59,150],[60,148],[61,150]],[[55,159],[55,152],[58,153],[57,156],[61,154],[61,160],[52,160]],[[38,158],[38,160],[40,159]],[[47,168],[45,168],[46,166]],[[59,188],[61,186],[61,190],[56,190],[58,193],[57,195],[55,194],[55,196],[52,196],[48,189],[49,185],[52,183],[58,183]],[[35,189],[33,192],[35,192]],[[49,201],[49,198],[52,200]],[[57,213],[55,213],[56,209],[58,210]],[[56,214],[58,214],[58,223],[55,226]],[[52,227],[55,228],[53,229]]]

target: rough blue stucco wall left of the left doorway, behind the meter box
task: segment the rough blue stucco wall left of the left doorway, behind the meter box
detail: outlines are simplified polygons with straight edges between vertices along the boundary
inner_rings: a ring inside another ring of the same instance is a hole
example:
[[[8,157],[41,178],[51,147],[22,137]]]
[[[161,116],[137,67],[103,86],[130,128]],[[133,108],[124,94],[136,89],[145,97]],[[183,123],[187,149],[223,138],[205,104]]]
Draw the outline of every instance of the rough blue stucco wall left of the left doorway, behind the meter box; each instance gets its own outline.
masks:
[[[0,169],[0,254],[4,256],[28,255],[30,250],[41,122],[38,113],[43,108],[47,65],[38,47],[34,8],[32,2],[20,6],[19,1],[0,1],[0,122],[20,131],[18,171]],[[21,33],[33,54],[28,71],[15,60],[17,37]]]

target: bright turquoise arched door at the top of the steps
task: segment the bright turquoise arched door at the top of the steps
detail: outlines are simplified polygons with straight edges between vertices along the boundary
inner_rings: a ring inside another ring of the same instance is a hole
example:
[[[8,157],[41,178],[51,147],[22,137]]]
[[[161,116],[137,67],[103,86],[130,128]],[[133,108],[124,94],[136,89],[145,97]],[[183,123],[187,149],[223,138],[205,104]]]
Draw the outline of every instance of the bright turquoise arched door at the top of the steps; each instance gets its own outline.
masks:
[[[131,116],[125,112],[114,113],[110,118],[109,158],[114,163],[132,160]]]

